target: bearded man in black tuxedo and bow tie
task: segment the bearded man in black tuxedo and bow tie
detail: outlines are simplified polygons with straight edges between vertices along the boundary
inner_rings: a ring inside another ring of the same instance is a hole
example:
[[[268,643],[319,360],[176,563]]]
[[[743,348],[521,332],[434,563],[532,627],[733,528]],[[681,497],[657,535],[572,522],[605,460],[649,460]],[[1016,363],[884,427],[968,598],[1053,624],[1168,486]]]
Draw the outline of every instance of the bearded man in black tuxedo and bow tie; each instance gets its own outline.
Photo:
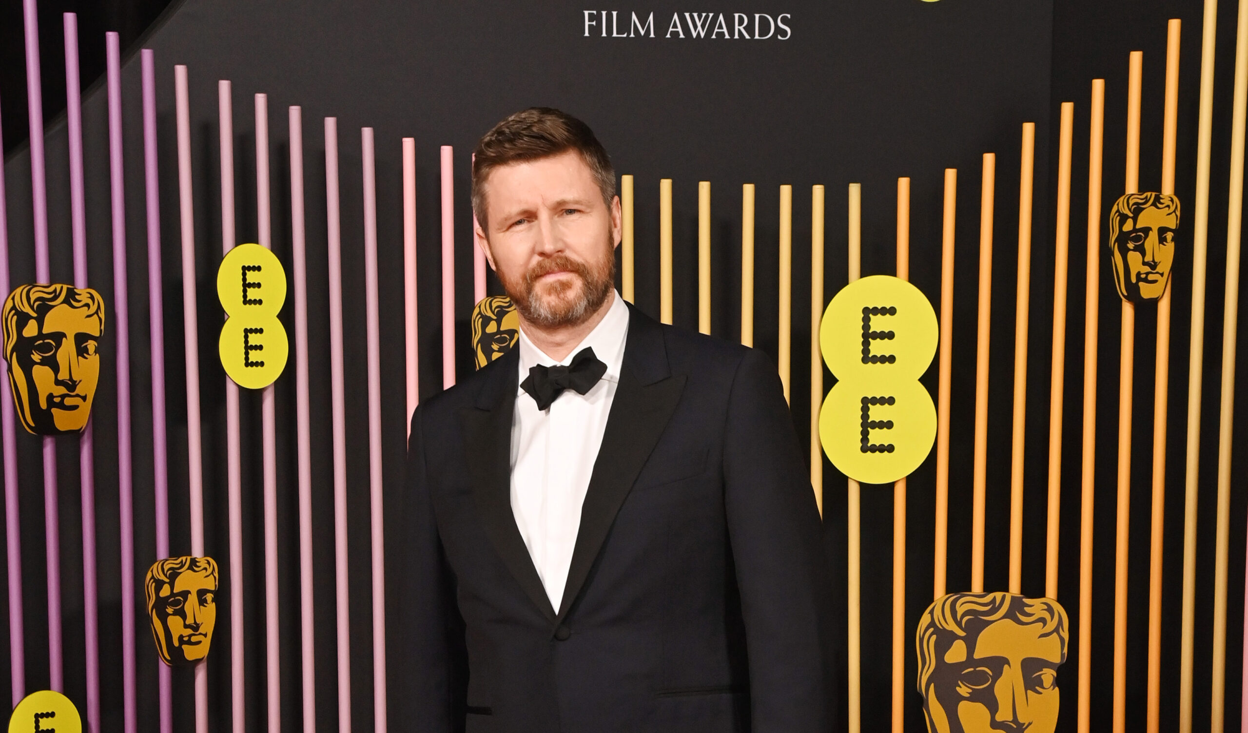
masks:
[[[520,335],[412,421],[404,729],[830,729],[821,526],[775,368],[615,293],[615,175],[579,120],[499,122],[473,208]]]

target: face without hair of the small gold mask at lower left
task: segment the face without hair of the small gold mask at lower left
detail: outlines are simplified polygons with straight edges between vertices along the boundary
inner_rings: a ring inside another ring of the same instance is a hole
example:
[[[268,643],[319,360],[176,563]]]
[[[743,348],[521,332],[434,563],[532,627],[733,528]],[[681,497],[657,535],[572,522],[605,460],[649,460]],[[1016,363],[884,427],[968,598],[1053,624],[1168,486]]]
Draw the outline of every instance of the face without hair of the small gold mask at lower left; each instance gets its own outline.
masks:
[[[167,661],[197,662],[208,656],[217,623],[217,586],[206,572],[183,572],[156,593],[152,622],[158,625]]]

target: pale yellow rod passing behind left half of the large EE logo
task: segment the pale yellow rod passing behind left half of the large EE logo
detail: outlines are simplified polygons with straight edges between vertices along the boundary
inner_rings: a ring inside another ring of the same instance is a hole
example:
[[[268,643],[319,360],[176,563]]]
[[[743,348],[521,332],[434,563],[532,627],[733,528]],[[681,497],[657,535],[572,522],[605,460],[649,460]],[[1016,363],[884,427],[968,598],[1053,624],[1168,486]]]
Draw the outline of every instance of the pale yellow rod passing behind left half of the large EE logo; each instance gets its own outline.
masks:
[[[862,274],[862,184],[849,188],[849,282]],[[847,481],[845,524],[849,588],[849,733],[862,733],[862,487]]]

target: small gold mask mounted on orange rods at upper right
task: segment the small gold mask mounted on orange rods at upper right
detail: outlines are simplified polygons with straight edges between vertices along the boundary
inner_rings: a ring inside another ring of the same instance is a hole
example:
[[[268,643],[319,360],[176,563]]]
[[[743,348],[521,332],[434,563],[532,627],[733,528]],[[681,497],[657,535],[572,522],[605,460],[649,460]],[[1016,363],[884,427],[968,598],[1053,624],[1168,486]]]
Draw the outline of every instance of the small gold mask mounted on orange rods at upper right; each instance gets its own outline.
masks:
[[[1157,300],[1169,284],[1174,264],[1178,198],[1164,193],[1128,193],[1109,212],[1109,258],[1123,300]]]

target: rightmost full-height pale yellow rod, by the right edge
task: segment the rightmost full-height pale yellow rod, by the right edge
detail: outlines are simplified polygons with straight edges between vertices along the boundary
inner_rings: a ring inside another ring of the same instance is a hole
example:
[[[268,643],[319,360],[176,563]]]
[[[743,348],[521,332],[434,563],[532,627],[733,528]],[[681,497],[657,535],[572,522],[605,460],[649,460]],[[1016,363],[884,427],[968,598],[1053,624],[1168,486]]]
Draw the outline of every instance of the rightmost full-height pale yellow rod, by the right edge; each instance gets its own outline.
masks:
[[[1231,541],[1231,423],[1234,418],[1236,318],[1244,198],[1244,122],[1248,117],[1248,0],[1239,0],[1236,93],[1231,116],[1231,206],[1227,207],[1227,289],[1222,315],[1222,404],[1218,418],[1218,529],[1213,561],[1213,681],[1209,732],[1222,733],[1227,693],[1227,565]]]

